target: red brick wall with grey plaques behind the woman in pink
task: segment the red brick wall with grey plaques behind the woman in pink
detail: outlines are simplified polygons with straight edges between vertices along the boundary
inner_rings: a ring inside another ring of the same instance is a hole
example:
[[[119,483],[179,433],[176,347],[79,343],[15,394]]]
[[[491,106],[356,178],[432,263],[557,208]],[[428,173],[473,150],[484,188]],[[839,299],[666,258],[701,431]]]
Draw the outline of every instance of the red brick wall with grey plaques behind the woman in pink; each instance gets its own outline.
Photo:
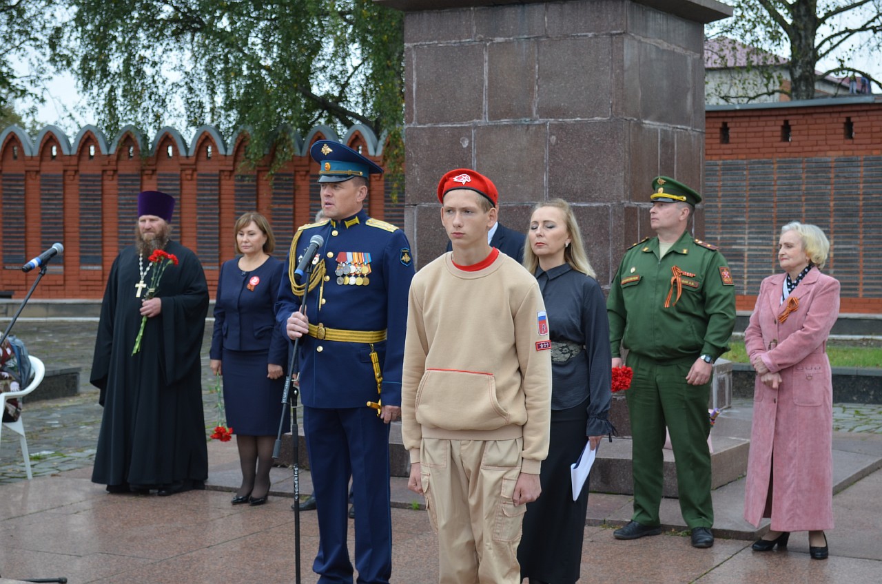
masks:
[[[824,271],[841,312],[882,313],[882,101],[875,97],[708,108],[706,239],[721,246],[752,310],[778,271],[781,226],[814,223],[830,238]]]

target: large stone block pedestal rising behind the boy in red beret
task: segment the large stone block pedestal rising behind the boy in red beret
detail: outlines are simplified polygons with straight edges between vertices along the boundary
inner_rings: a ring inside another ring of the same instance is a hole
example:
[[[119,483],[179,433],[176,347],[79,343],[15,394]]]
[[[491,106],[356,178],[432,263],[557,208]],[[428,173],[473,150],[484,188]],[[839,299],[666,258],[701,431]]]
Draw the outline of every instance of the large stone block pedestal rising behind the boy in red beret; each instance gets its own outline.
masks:
[[[418,266],[445,249],[436,186],[452,168],[490,176],[511,228],[526,230],[537,201],[570,201],[603,284],[650,235],[639,204],[652,178],[702,183],[704,28],[666,11],[676,3],[383,4],[409,10],[405,224]]]

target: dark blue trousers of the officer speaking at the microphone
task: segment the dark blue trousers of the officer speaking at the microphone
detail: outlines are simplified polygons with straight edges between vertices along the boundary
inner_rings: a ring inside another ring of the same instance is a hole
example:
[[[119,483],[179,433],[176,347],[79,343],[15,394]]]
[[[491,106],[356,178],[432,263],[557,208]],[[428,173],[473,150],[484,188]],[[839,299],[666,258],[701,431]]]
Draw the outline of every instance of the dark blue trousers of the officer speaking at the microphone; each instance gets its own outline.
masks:
[[[349,475],[355,509],[358,582],[386,583],[392,574],[389,426],[370,408],[303,408],[318,513],[319,584],[353,581],[347,547]]]

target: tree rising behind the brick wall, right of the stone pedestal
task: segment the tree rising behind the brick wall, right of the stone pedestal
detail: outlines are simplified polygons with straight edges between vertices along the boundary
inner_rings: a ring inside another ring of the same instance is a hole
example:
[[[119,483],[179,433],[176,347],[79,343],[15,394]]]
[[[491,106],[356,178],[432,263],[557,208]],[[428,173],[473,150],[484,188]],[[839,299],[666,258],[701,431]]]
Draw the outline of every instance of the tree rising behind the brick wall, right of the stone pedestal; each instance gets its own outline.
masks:
[[[788,56],[791,86],[781,93],[789,94],[791,99],[813,99],[815,81],[827,75],[864,75],[880,82],[869,71],[850,64],[856,56],[878,56],[882,52],[879,0],[736,0],[730,4],[735,6],[735,16],[709,26],[711,35],[725,35]],[[816,71],[821,61],[836,65]],[[753,60],[751,68],[770,78],[776,74],[774,65],[761,59]]]

